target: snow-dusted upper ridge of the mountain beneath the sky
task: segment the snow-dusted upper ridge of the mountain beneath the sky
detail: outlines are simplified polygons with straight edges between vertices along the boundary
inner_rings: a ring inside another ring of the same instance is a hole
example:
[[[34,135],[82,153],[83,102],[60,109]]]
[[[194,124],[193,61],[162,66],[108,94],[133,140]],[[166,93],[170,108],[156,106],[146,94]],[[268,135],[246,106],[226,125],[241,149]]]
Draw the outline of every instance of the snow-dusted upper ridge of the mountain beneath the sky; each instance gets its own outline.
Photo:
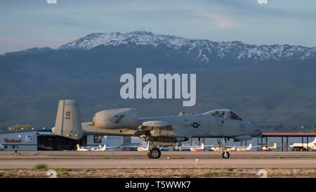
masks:
[[[97,46],[165,46],[195,57],[199,63],[212,60],[308,60],[316,58],[316,47],[290,45],[251,45],[241,41],[210,41],[185,39],[146,31],[129,33],[93,33],[60,46],[59,50],[88,50]]]

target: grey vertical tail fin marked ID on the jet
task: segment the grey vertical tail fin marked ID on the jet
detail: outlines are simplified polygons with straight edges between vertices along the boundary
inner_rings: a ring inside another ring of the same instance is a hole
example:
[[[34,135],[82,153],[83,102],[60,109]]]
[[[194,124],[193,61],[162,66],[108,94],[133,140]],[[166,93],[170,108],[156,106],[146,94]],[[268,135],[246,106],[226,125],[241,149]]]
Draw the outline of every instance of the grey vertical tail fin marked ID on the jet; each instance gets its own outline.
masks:
[[[60,100],[53,134],[79,140],[83,136],[79,108],[74,100]]]

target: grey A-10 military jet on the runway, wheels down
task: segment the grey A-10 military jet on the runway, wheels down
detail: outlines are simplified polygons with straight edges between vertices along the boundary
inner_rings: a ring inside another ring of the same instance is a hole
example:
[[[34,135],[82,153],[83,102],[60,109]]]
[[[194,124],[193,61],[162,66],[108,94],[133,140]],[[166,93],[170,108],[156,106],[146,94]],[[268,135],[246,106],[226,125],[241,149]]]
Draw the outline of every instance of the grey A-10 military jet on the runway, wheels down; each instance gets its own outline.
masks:
[[[220,139],[223,158],[229,158],[226,141],[246,141],[261,136],[254,124],[244,122],[230,110],[211,110],[195,115],[165,117],[138,117],[136,108],[102,110],[92,122],[81,122],[79,108],[74,100],[60,100],[53,127],[53,134],[70,139],[81,139],[84,135],[139,136],[147,141],[148,158],[160,158],[157,146],[180,146],[191,137],[213,137]]]

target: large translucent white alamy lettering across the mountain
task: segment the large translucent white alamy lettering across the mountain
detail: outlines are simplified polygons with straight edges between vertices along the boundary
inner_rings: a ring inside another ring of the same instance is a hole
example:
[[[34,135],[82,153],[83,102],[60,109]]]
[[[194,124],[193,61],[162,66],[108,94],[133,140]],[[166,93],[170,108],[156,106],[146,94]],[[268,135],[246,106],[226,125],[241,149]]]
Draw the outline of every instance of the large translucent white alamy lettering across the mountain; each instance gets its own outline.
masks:
[[[183,98],[183,106],[193,106],[196,103],[196,74],[190,74],[190,91],[188,89],[187,74],[173,75],[159,74],[158,80],[156,75],[147,73],[143,75],[142,68],[136,68],[136,80],[130,73],[121,75],[119,82],[125,83],[121,87],[121,98],[173,98],[173,82],[174,82],[174,98]],[[143,87],[143,83],[147,83]],[[158,84],[158,89],[157,89]],[[165,86],[166,85],[166,86]],[[136,89],[135,89],[136,87]],[[165,94],[166,92],[166,94]]]

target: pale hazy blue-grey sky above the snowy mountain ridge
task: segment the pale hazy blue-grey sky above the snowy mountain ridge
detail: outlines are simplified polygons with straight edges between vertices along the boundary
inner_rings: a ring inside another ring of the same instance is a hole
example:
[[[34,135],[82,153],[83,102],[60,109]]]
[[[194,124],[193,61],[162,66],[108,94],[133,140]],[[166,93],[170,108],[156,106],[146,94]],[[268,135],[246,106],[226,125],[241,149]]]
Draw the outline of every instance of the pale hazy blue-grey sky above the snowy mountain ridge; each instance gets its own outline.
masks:
[[[0,53],[140,29],[188,39],[316,46],[316,1],[1,0],[0,26]]]

